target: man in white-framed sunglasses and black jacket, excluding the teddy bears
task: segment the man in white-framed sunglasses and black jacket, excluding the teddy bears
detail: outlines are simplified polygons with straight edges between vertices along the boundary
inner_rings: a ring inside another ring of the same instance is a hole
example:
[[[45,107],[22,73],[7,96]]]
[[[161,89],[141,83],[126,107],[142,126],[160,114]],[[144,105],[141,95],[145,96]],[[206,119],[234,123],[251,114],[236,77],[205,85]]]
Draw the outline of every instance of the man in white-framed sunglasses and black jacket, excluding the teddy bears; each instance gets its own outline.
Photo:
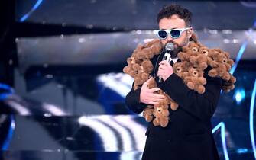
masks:
[[[162,8],[157,16],[160,30],[158,36],[161,43],[174,44],[173,62],[177,62],[177,53],[188,45],[193,34],[190,27],[191,13],[180,5],[170,5]],[[176,30],[174,30],[176,29]],[[126,104],[135,113],[141,113],[147,104],[157,104],[163,96],[154,94],[162,89],[179,108],[170,111],[170,121],[166,127],[154,126],[149,123],[147,141],[142,156],[143,160],[215,160],[219,155],[212,136],[211,117],[217,106],[221,79],[207,75],[205,93],[198,94],[183,83],[183,79],[173,73],[173,67],[167,61],[161,61],[164,54],[152,59],[154,70],[152,76],[158,82],[158,88],[147,88],[148,81],[137,90],[131,89],[126,96]],[[160,62],[161,61],[161,62]],[[156,76],[157,75],[157,76]]]

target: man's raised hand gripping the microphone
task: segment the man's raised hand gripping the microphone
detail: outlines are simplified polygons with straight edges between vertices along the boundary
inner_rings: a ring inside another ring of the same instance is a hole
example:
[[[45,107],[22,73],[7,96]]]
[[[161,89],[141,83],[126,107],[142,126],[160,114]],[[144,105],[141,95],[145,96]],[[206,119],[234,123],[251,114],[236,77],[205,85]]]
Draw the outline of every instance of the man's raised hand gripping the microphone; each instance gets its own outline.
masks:
[[[163,80],[165,81],[172,74],[173,74],[173,67],[170,66],[170,63],[167,62],[166,60],[161,61],[159,63],[157,76],[160,77],[160,78],[163,78]]]

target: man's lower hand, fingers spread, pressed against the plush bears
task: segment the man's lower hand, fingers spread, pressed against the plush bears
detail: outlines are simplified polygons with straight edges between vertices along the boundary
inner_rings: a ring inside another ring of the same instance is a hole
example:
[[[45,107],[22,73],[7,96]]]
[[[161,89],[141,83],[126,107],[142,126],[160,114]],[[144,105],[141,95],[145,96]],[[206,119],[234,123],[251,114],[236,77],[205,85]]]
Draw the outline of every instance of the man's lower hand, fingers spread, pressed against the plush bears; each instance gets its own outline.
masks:
[[[140,101],[144,104],[157,104],[158,101],[163,100],[164,95],[155,94],[155,91],[159,91],[160,88],[148,88],[148,82],[151,80],[148,79],[141,87]]]

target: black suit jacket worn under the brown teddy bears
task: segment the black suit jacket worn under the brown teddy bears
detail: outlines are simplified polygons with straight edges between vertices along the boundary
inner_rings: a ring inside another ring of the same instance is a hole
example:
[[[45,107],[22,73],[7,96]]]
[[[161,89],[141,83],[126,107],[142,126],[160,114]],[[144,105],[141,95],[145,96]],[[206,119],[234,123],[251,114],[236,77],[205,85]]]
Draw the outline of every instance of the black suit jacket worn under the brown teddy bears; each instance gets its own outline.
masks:
[[[155,66],[152,75],[157,80],[158,63],[163,54],[152,59]],[[217,106],[221,79],[211,78],[205,70],[206,91],[198,94],[190,90],[176,74],[170,75],[158,87],[179,104],[179,108],[170,111],[167,127],[147,127],[147,140],[142,156],[143,160],[216,160],[219,155],[212,136],[211,117]],[[131,91],[125,98],[129,109],[141,113],[147,104],[139,102],[141,89]]]

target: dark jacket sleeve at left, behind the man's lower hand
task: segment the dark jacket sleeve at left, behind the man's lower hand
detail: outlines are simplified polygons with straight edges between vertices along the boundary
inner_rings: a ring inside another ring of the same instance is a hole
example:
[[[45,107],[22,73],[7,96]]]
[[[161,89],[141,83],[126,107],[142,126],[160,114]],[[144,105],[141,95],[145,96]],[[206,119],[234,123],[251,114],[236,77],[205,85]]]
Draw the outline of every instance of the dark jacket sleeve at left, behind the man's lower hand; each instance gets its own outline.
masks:
[[[141,88],[134,90],[133,85],[134,82],[132,84],[131,91],[125,97],[125,104],[134,113],[140,114],[147,107],[147,104],[140,102]]]

